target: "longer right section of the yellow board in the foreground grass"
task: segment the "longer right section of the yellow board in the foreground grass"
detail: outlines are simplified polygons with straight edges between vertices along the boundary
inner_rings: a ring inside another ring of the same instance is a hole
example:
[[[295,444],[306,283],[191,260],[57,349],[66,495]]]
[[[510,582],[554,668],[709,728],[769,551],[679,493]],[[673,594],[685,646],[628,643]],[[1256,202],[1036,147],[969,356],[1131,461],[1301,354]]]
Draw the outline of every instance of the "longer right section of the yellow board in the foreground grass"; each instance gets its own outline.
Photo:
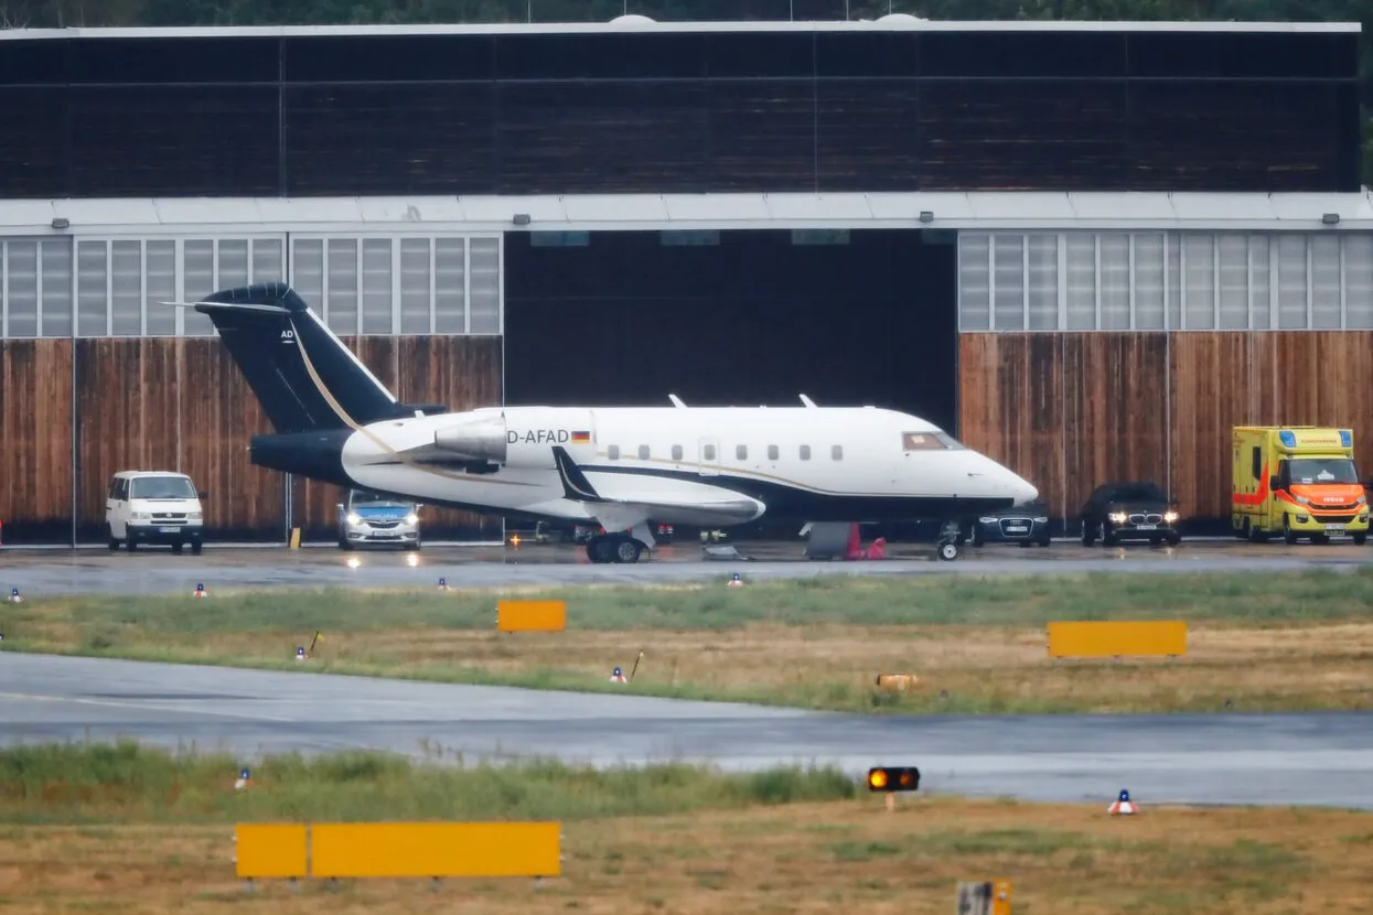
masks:
[[[560,823],[316,823],[312,877],[557,877]]]

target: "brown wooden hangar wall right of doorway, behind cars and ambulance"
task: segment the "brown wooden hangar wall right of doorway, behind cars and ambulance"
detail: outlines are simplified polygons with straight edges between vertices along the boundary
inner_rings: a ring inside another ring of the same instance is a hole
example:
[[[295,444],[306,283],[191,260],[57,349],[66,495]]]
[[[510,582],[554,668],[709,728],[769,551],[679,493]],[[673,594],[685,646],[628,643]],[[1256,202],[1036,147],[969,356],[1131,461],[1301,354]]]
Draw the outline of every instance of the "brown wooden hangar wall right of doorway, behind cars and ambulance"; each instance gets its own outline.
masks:
[[[1222,532],[1234,425],[1351,427],[1373,476],[1369,377],[1369,331],[964,335],[960,432],[1038,486],[1070,534],[1096,484],[1149,477],[1195,530]],[[1056,417],[1061,458],[1046,454]]]

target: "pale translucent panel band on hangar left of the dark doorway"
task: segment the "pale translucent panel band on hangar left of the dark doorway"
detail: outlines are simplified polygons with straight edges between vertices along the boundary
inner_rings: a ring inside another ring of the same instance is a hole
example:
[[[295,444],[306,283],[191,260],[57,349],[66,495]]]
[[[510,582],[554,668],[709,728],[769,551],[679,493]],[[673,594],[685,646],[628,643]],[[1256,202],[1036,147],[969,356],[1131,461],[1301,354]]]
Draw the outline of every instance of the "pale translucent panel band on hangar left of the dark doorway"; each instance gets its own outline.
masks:
[[[0,339],[213,336],[189,302],[287,280],[335,333],[498,335],[500,235],[0,237]]]

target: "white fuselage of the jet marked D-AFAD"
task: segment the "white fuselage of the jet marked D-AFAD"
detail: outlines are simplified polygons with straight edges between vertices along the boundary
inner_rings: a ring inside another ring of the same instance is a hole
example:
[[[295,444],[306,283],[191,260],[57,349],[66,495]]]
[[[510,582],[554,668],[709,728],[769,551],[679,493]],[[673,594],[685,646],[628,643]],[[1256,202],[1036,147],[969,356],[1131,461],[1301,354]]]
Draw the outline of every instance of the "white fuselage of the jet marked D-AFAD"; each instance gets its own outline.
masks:
[[[504,460],[489,472],[472,473],[435,447],[437,436],[472,424],[504,439]],[[567,498],[555,446],[600,502]],[[361,427],[343,446],[342,466],[369,490],[492,513],[596,519],[608,530],[644,517],[721,525],[765,513],[946,517],[1037,495],[930,423],[875,407],[489,407]]]

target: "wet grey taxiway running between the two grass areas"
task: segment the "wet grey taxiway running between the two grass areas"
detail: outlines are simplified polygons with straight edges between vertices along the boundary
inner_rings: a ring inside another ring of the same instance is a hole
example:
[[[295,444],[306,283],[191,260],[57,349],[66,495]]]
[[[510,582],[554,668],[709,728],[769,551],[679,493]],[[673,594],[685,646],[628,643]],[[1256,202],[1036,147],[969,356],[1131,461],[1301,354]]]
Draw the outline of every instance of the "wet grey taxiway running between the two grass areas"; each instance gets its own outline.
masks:
[[[633,687],[627,687],[633,689]],[[931,794],[1373,809],[1373,713],[864,717],[634,696],[0,653],[0,742],[265,752],[373,749],[467,761],[914,764]]]

